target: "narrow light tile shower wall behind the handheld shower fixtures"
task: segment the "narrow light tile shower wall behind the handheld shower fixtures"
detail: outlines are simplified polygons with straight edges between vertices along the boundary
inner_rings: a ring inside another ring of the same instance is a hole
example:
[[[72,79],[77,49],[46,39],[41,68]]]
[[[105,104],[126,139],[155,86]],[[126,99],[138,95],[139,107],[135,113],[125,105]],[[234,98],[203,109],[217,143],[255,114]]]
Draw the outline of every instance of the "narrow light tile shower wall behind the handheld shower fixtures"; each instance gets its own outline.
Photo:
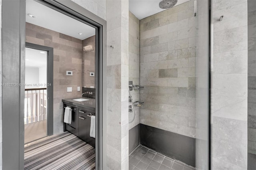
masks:
[[[140,20],[129,12],[129,81],[134,85],[140,85]],[[133,102],[140,100],[140,91],[130,91]],[[129,103],[129,105],[132,105]],[[129,130],[140,123],[140,107],[134,106],[135,119],[129,124]],[[134,111],[129,113],[129,121],[132,121]]]

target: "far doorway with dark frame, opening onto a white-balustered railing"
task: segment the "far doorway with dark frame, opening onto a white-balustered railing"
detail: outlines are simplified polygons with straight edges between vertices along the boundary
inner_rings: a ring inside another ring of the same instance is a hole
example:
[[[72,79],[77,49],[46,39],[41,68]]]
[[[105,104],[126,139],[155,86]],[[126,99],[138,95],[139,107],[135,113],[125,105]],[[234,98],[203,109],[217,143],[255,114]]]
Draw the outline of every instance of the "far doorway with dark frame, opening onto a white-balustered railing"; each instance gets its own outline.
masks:
[[[53,48],[26,43],[24,143],[53,134]]]

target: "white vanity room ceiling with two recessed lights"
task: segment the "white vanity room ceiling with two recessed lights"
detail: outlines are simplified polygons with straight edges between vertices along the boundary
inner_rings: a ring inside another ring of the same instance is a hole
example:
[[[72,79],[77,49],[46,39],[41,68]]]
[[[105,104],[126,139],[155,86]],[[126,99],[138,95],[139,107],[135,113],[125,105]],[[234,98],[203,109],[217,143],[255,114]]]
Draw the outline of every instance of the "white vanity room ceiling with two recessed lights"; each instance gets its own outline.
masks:
[[[35,18],[28,16],[32,14]],[[26,0],[26,22],[84,40],[95,35],[95,28],[48,8],[34,0]],[[79,35],[82,33],[84,35]]]

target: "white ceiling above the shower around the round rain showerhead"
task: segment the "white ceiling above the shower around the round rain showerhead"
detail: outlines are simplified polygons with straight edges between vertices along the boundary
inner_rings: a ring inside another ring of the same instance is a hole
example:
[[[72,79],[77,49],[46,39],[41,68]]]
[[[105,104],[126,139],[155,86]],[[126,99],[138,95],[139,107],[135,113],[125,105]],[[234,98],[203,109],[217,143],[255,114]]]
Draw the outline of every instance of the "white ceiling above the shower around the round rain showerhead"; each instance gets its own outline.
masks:
[[[163,9],[159,8],[160,1],[161,0],[129,0],[129,10],[139,20],[141,20],[158,12],[164,11]],[[187,1],[189,0],[178,0],[175,6]]]

